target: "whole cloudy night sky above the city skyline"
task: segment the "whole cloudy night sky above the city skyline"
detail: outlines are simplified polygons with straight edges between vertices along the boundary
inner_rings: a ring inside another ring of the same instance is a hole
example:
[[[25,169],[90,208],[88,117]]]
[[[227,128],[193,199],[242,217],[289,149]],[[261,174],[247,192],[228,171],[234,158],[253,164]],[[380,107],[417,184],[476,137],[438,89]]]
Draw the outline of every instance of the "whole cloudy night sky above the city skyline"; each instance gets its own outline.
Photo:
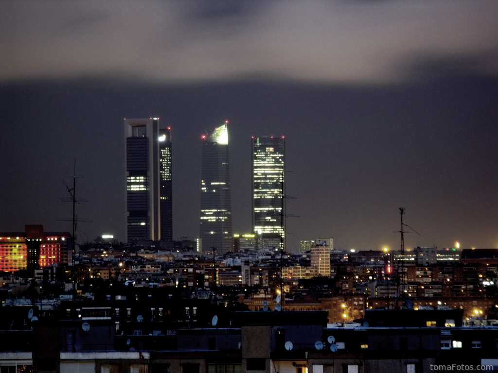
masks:
[[[124,118],[173,136],[173,236],[199,233],[201,139],[286,137],[288,250],[498,247],[498,1],[0,1],[0,232],[125,233]],[[72,183],[71,179],[65,179]],[[408,229],[409,231],[409,229]]]

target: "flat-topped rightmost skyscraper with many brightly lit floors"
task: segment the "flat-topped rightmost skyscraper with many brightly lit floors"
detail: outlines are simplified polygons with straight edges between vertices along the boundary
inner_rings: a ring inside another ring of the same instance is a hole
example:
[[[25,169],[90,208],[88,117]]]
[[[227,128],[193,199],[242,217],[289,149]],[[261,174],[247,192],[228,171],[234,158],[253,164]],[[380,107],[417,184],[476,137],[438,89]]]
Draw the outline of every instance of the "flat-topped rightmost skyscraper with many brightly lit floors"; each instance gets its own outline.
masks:
[[[285,240],[285,139],[252,138],[252,229]],[[285,248],[285,243],[284,246]]]

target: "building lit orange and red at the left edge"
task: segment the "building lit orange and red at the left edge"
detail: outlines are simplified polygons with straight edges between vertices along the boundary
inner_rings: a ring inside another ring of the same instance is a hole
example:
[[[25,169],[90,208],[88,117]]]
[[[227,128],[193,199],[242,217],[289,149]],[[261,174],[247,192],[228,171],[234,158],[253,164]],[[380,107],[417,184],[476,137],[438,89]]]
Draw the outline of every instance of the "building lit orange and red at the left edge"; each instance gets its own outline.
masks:
[[[26,225],[24,232],[0,233],[0,271],[67,265],[70,239],[67,232],[43,232],[41,225]]]

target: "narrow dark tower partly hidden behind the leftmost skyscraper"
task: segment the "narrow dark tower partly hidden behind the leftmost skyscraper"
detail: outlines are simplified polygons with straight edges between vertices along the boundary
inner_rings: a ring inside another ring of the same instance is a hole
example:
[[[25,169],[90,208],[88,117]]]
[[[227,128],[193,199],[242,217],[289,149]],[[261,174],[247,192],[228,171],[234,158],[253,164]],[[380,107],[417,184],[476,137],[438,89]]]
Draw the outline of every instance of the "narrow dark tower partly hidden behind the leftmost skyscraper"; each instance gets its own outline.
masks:
[[[173,241],[173,189],[171,183],[171,127],[159,129],[161,241]]]

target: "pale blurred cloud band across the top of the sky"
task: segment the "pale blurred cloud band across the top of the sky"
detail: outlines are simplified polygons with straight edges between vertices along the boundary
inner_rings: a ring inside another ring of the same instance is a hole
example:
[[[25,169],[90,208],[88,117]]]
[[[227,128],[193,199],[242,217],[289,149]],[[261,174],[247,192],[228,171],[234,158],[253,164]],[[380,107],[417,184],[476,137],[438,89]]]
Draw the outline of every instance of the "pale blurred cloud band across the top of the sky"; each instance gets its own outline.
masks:
[[[407,79],[420,56],[455,55],[497,74],[481,60],[497,48],[493,0],[0,4],[1,81],[385,83]]]

